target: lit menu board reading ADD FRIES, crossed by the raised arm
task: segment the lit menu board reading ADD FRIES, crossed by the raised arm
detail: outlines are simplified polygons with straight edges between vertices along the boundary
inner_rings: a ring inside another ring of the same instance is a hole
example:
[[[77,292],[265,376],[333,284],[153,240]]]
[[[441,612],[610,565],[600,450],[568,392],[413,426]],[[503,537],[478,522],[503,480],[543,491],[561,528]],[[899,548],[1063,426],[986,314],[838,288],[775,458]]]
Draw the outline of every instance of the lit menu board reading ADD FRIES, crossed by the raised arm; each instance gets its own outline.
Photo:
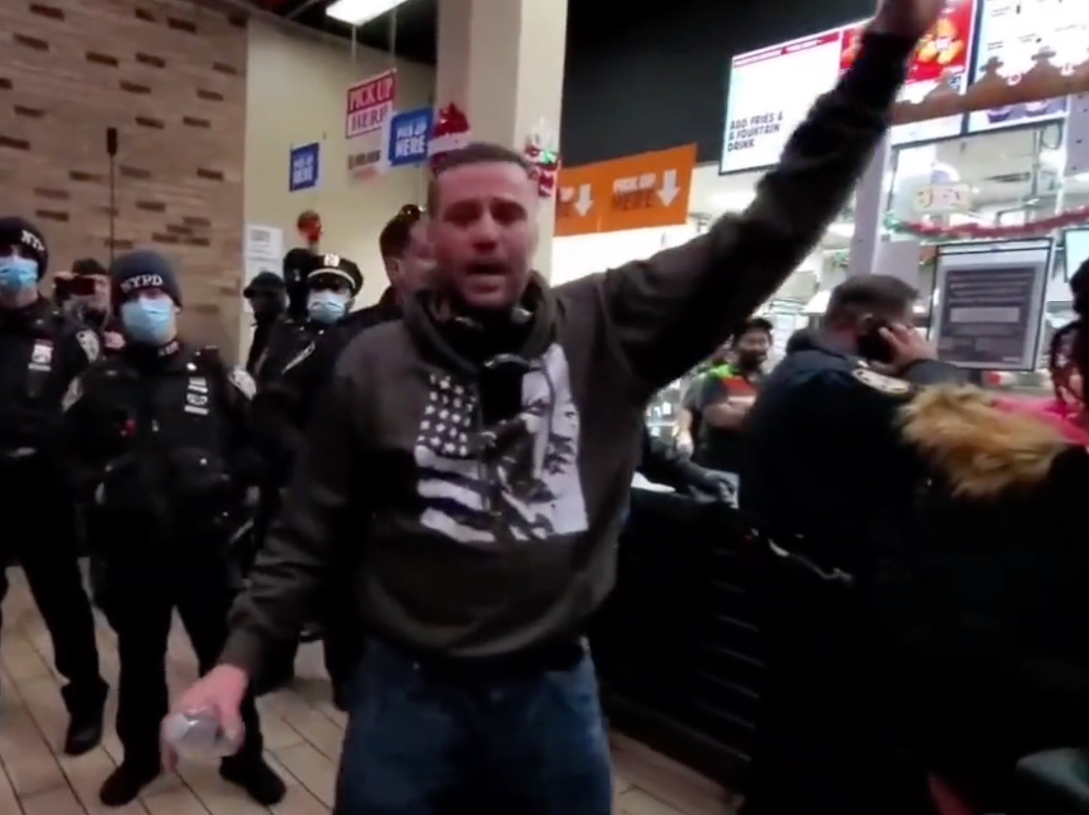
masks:
[[[1081,0],[1089,3],[1089,0]],[[902,100],[921,99],[944,83],[963,92],[974,45],[977,0],[951,0],[920,41]],[[757,170],[779,161],[794,128],[821,94],[854,62],[866,21],[782,42],[731,60],[726,132],[720,173]],[[894,145],[958,136],[960,114],[896,125]]]

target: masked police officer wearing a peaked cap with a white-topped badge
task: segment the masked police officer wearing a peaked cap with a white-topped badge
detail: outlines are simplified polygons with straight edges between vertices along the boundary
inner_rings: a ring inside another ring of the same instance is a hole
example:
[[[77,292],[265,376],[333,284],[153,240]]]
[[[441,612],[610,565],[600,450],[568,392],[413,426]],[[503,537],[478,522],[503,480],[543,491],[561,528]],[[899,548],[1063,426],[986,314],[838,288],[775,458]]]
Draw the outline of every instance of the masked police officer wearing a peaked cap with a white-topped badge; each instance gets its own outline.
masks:
[[[257,546],[260,546],[265,531],[279,509],[280,491],[286,484],[291,465],[302,453],[305,443],[305,424],[308,418],[306,411],[311,394],[307,394],[305,400],[301,399],[294,383],[301,372],[308,370],[307,366],[314,361],[316,344],[320,337],[335,323],[347,319],[352,301],[363,288],[363,273],[347,258],[315,255],[311,268],[306,270],[305,282],[307,320],[297,331],[283,336],[285,345],[287,342],[292,343],[291,355],[270,349],[262,369],[261,385],[254,400],[254,423],[261,441],[261,452],[269,464],[261,484],[260,507],[255,523]],[[284,360],[282,363],[279,361],[281,359]],[[328,641],[326,653],[327,664],[331,663],[333,666],[330,675],[333,677],[335,692],[342,686],[338,679],[343,671],[335,657],[330,660]],[[270,665],[268,675],[259,683],[260,690],[291,681],[294,662],[293,644]]]

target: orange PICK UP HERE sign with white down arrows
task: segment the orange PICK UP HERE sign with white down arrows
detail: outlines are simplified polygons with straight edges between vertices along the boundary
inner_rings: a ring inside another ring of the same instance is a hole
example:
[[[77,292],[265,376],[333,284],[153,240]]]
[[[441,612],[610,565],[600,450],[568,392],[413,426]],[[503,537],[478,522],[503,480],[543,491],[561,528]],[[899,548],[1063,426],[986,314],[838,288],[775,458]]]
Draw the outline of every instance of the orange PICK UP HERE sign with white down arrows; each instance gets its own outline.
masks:
[[[696,145],[563,168],[555,235],[674,226],[688,218]]]

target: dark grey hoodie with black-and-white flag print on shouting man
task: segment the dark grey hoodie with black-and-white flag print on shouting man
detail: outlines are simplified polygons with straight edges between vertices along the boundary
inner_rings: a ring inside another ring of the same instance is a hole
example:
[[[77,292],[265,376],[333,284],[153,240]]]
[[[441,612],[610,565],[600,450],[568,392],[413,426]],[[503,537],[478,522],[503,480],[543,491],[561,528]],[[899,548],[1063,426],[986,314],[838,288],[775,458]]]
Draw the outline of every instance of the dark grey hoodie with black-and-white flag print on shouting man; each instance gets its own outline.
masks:
[[[523,324],[443,320],[424,296],[360,334],[223,660],[253,671],[334,569],[354,571],[369,631],[417,653],[498,657],[578,637],[613,585],[648,399],[721,345],[840,212],[911,45],[868,35],[752,205],[688,244],[555,288],[535,279]]]

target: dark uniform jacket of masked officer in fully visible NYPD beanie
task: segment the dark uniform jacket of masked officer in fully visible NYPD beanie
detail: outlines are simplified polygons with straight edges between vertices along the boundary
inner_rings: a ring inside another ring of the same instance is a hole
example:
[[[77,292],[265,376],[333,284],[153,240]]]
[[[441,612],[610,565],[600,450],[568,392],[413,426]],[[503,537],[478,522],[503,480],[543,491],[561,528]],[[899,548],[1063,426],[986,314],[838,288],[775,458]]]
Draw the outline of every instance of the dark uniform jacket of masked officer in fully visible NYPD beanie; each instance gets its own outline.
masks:
[[[84,495],[111,538],[145,547],[231,531],[257,477],[253,384],[215,348],[130,346],[73,382],[65,439]]]

